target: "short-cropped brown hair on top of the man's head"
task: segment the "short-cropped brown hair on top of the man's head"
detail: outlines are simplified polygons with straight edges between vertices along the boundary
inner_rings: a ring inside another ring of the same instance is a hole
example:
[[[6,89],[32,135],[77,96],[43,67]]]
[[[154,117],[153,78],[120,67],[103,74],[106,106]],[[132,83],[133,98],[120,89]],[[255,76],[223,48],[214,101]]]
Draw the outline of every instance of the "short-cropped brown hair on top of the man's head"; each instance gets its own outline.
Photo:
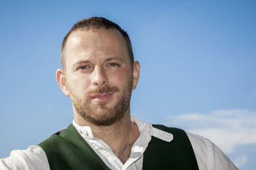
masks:
[[[82,31],[88,31],[90,29],[116,29],[119,31],[122,36],[124,37],[126,44],[127,44],[127,50],[129,53],[129,58],[131,62],[131,67],[133,66],[134,57],[132,53],[132,45],[131,40],[127,34],[127,32],[124,31],[119,25],[115,24],[114,22],[111,22],[110,20],[103,18],[103,17],[90,17],[90,18],[84,18],[83,20],[79,20],[76,24],[73,25],[73,27],[68,31],[67,35],[62,41],[61,45],[61,64],[63,69],[65,69],[65,55],[63,54],[63,51],[65,50],[65,45],[67,43],[67,39],[70,36],[70,34],[77,30]]]

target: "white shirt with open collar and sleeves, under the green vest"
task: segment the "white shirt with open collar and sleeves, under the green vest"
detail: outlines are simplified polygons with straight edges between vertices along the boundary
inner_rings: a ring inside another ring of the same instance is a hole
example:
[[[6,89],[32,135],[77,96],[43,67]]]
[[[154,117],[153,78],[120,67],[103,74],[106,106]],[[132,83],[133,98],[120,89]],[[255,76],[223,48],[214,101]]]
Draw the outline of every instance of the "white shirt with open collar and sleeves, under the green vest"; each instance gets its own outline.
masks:
[[[131,117],[140,131],[140,137],[132,145],[131,156],[123,164],[112,152],[104,141],[93,138],[92,129],[88,126],[81,127],[73,120],[73,125],[81,134],[84,140],[93,148],[105,164],[111,169],[142,169],[143,153],[145,152],[151,136],[162,139],[163,141],[172,141],[173,135],[152,127]],[[199,169],[209,170],[232,170],[237,169],[228,157],[208,139],[186,132],[193,146]],[[174,136],[175,138],[175,136]],[[13,150],[10,157],[0,159],[0,169],[50,169],[44,150],[38,145],[29,146],[27,150]]]

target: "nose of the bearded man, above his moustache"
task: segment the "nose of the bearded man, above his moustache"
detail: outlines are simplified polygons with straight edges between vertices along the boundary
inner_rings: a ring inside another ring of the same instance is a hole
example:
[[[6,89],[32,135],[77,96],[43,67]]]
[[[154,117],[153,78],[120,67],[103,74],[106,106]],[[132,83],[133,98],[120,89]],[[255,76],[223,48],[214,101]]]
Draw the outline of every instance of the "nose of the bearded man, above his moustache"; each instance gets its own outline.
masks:
[[[102,67],[95,67],[93,73],[93,86],[102,86],[108,84],[108,77],[106,76],[106,73]]]

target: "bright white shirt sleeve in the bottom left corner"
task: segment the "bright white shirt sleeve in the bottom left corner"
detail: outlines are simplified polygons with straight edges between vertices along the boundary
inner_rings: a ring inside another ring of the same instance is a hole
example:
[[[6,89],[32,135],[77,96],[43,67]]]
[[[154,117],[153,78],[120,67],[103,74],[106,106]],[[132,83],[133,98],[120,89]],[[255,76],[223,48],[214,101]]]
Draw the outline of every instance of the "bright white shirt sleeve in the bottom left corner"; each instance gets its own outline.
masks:
[[[0,159],[0,169],[50,170],[50,167],[44,150],[38,145],[31,145],[27,150],[13,150],[10,157]]]

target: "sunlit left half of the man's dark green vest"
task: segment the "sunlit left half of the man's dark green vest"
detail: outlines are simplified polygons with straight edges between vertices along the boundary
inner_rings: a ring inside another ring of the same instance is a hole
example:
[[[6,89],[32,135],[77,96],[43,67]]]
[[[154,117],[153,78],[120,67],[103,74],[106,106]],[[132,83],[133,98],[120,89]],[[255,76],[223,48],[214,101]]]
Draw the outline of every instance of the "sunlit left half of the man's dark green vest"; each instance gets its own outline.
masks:
[[[74,125],[52,134],[39,146],[45,151],[51,169],[109,169]]]

